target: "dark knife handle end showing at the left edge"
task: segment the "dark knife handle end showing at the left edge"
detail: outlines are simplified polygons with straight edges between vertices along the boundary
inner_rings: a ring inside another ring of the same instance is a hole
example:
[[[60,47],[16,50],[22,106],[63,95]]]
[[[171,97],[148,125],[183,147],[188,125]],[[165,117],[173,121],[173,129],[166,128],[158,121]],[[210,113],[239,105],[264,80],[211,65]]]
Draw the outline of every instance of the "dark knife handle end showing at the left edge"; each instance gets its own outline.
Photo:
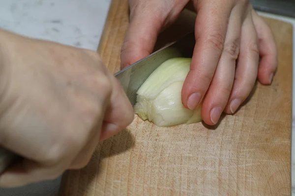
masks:
[[[20,156],[9,151],[4,147],[0,147],[0,173],[4,172],[9,166],[11,166]]]

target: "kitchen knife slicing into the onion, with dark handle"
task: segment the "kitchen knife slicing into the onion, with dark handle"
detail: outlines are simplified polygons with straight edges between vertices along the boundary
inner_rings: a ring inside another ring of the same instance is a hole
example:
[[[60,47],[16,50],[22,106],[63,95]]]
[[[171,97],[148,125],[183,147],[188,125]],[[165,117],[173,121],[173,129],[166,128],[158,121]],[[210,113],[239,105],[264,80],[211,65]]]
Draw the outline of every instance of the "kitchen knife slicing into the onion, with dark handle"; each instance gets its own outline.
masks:
[[[195,46],[194,32],[190,32],[147,57],[115,73],[132,105],[136,103],[136,92],[148,76],[164,61],[174,57],[192,57]],[[14,152],[0,147],[0,173],[22,159]]]

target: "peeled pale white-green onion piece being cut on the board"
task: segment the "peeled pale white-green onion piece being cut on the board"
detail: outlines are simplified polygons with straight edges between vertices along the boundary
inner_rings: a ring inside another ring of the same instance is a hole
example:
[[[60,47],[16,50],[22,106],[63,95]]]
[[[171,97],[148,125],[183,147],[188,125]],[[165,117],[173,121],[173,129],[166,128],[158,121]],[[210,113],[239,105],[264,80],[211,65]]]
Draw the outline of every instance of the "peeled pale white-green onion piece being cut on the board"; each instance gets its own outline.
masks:
[[[181,89],[191,58],[171,58],[162,63],[137,92],[135,113],[157,126],[175,126],[202,121],[200,104],[195,110],[181,102]]]

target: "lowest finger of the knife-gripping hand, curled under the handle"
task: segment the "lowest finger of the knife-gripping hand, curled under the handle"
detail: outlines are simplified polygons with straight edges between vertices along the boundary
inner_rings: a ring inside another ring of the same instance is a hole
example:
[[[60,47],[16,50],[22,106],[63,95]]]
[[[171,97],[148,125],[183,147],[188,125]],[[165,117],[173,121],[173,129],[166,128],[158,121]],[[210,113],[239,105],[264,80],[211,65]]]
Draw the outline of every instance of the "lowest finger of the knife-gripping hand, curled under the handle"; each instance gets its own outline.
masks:
[[[42,180],[55,179],[64,172],[65,168],[62,165],[56,168],[46,168],[36,162],[24,159],[0,175],[0,187],[13,188]]]

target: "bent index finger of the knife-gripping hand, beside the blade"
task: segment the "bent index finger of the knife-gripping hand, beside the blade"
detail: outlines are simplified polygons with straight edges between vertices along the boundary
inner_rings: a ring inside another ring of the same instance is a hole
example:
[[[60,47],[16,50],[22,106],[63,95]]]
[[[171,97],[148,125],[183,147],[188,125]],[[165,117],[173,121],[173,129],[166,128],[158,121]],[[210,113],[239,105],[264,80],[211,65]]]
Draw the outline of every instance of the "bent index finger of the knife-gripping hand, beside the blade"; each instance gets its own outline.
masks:
[[[111,75],[113,91],[110,106],[107,108],[100,140],[105,140],[132,123],[134,112],[118,80]]]

